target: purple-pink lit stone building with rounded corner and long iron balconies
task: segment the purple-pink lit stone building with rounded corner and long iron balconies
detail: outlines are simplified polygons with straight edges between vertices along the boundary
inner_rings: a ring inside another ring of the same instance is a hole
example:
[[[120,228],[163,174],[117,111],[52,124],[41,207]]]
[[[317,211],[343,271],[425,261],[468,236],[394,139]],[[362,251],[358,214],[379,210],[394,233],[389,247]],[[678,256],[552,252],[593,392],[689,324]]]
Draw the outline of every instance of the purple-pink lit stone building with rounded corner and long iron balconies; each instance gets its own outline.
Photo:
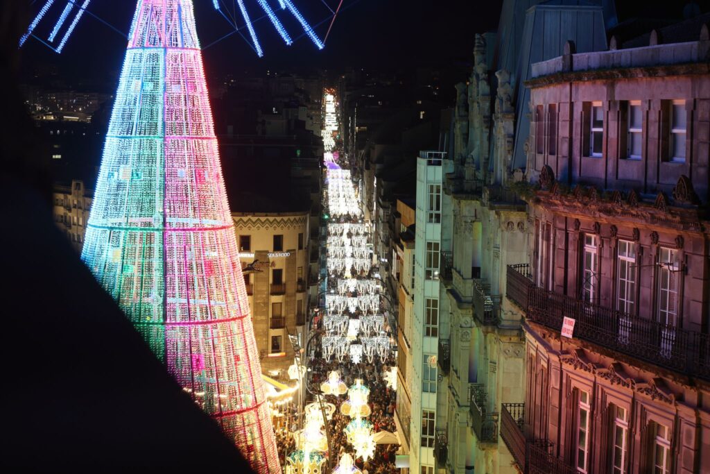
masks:
[[[710,472],[709,51],[702,26],[532,65],[524,472]]]

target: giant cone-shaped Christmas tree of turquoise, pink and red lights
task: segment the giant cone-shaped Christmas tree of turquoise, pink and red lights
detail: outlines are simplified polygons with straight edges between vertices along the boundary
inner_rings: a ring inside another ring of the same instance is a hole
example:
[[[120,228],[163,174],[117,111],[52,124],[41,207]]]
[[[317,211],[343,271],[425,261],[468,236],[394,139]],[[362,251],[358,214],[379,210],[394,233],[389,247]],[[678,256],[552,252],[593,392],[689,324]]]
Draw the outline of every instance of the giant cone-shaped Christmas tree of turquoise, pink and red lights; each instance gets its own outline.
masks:
[[[138,0],[82,259],[256,472],[280,472],[192,0]]]

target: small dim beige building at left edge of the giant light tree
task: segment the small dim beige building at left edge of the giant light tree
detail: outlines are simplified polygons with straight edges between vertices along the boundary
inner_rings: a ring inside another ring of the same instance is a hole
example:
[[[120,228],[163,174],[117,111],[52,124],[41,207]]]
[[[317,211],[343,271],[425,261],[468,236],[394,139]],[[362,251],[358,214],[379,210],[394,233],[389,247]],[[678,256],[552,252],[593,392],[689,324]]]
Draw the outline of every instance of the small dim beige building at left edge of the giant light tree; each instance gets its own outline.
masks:
[[[68,186],[55,185],[53,190],[54,220],[78,253],[82,252],[84,246],[84,233],[93,198],[94,191],[88,190],[80,180],[74,180]]]

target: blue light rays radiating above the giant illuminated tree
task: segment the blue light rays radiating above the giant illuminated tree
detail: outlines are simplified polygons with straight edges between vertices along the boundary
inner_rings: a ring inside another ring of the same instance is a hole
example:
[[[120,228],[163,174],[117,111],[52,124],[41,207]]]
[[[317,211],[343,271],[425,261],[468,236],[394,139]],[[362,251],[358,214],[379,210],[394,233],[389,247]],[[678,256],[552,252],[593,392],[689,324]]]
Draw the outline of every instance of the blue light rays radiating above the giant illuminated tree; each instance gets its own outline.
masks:
[[[322,50],[325,47],[325,42],[327,41],[333,23],[335,22],[335,18],[338,14],[349,8],[349,6],[353,6],[360,0],[351,1],[351,3],[346,6],[343,6],[344,0],[321,0],[321,3],[325,6],[325,8],[327,8],[329,13],[326,18],[322,19],[318,23],[315,23],[315,26],[312,25],[312,23],[310,23],[301,13],[296,6],[295,0],[202,1],[210,1],[215,11],[219,12],[219,14],[222,15],[222,17],[224,17],[224,19],[234,28],[234,31],[226,34],[222,38],[219,38],[219,40],[214,43],[221,41],[227,36],[231,36],[233,33],[239,33],[239,35],[244,38],[244,41],[249,43],[256,55],[261,58],[264,54],[264,50],[261,45],[261,41],[259,40],[256,28],[254,27],[255,23],[258,21],[268,20],[286,45],[292,45],[297,39],[307,37],[310,41],[312,41],[317,49]],[[56,53],[62,53],[67,41],[75,31],[77,23],[79,23],[84,14],[93,16],[97,20],[121,33],[118,28],[111,26],[110,23],[104,21],[102,18],[99,18],[99,16],[92,14],[89,11],[89,4],[91,3],[91,0],[35,0],[32,3],[38,4],[40,9],[28,25],[25,33],[21,36],[19,42],[20,47],[26,43],[28,38],[35,38],[37,41],[40,41],[40,43],[43,43]],[[143,0],[138,0],[138,4],[140,5],[141,3],[143,3]],[[238,14],[237,11],[239,11]],[[239,16],[241,16],[241,21],[237,21]],[[301,33],[297,38],[293,38],[291,33],[286,30],[282,23],[282,19],[279,17],[293,18],[293,20],[299,24],[300,28],[302,28],[303,33]],[[37,28],[43,20],[47,23],[53,21],[53,23],[50,23],[50,25],[53,26],[50,28],[49,33],[46,36],[35,33],[35,28]],[[316,33],[314,28],[326,23],[328,24],[328,29],[324,38],[321,38],[318,36],[318,33]],[[244,35],[244,30],[248,33],[249,39],[247,39]],[[133,32],[131,31],[131,33],[127,36],[129,41],[131,41],[132,33]]]

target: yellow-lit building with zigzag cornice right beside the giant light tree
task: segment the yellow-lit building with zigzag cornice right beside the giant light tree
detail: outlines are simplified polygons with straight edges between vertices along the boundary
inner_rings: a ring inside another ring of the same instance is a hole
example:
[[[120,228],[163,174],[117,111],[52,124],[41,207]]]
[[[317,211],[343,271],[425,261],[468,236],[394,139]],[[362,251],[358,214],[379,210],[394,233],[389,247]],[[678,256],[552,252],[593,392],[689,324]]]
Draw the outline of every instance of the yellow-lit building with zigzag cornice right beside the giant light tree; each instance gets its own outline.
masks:
[[[309,212],[232,213],[262,370],[288,379],[289,335],[307,340]]]

